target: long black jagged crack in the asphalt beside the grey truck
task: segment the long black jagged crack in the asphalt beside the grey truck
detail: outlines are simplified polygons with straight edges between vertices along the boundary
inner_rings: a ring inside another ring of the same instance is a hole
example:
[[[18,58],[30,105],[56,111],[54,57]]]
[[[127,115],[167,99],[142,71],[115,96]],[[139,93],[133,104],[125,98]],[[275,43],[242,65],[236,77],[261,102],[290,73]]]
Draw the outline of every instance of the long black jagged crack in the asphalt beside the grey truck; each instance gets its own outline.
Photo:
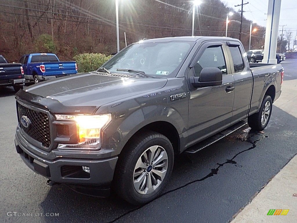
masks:
[[[262,136],[262,137],[261,137],[260,139],[254,140],[253,142],[252,142],[252,141],[249,141],[249,139],[251,139],[252,136],[255,136],[255,135]],[[260,135],[260,134],[253,134],[252,136],[250,136],[250,137],[247,138],[246,140],[240,139],[240,138],[238,138],[238,137],[233,138],[233,139],[236,139],[236,140],[241,141],[241,142],[248,142],[248,143],[251,143],[252,146],[249,147],[249,148],[246,149],[246,150],[242,150],[241,152],[239,152],[239,153],[237,153],[235,156],[233,156],[231,159],[227,159],[227,161],[224,162],[224,163],[222,163],[222,164],[217,163],[216,165],[218,165],[218,167],[215,168],[215,169],[211,169],[211,172],[210,172],[208,175],[206,175],[205,177],[200,178],[200,179],[197,179],[197,180],[190,181],[189,183],[186,183],[186,184],[184,184],[184,185],[182,185],[182,186],[180,186],[180,187],[177,187],[177,188],[175,188],[175,189],[166,191],[165,193],[160,194],[160,195],[159,195],[158,197],[156,197],[154,200],[157,200],[157,199],[159,199],[159,198],[161,198],[161,197],[165,196],[166,194],[169,194],[169,193],[171,193],[171,192],[173,192],[173,191],[177,191],[177,190],[182,189],[182,188],[184,188],[184,187],[186,187],[186,186],[189,186],[190,184],[193,184],[193,183],[196,183],[196,182],[199,182],[199,181],[203,181],[203,180],[206,180],[207,178],[210,178],[210,177],[212,177],[212,176],[214,176],[214,175],[217,175],[217,173],[219,172],[219,168],[220,168],[220,167],[224,166],[225,164],[236,164],[236,161],[233,160],[233,159],[236,158],[236,156],[238,156],[239,154],[244,153],[244,152],[246,152],[246,151],[249,151],[249,150],[254,149],[254,148],[256,147],[256,143],[257,143],[257,142],[261,141],[261,140],[264,139],[264,138],[268,138],[268,136],[264,136],[264,135]],[[152,201],[154,201],[154,200],[152,200]],[[152,201],[150,201],[149,203],[151,203]],[[141,206],[139,206],[139,207],[137,207],[137,208],[134,208],[134,209],[132,209],[132,210],[130,210],[130,211],[127,211],[127,212],[125,212],[124,214],[122,214],[122,215],[120,215],[119,217],[117,217],[117,218],[111,220],[111,221],[108,222],[108,223],[116,222],[117,220],[121,219],[122,217],[128,215],[129,213],[132,213],[132,212],[134,212],[134,211],[139,210],[140,208],[143,208],[144,206],[148,205],[149,203],[146,203],[146,204],[141,205]]]

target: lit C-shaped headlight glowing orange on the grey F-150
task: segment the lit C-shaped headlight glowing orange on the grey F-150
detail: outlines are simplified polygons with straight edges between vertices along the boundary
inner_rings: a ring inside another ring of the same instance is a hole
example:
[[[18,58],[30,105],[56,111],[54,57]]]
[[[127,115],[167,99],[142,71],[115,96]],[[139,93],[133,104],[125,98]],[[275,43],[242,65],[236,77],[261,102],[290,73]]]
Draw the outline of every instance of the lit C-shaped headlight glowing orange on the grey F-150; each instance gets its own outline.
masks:
[[[58,149],[98,149],[101,130],[111,121],[111,114],[102,115],[64,115],[56,114],[57,121],[75,121],[78,144],[59,144]]]

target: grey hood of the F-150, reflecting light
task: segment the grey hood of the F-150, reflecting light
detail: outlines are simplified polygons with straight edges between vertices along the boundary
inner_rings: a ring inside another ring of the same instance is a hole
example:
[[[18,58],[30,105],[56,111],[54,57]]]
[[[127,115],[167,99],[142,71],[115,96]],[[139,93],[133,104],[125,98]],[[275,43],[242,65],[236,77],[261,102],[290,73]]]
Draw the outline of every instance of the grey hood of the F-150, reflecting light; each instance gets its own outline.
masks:
[[[26,92],[58,100],[64,106],[99,107],[160,89],[166,83],[167,79],[91,72],[41,82],[27,88]]]

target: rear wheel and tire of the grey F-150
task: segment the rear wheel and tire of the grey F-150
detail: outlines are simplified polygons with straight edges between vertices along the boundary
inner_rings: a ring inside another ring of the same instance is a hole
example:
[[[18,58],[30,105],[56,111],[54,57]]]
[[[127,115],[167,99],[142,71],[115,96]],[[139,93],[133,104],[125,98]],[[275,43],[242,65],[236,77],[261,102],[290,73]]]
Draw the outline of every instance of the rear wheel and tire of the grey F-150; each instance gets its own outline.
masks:
[[[272,111],[272,100],[269,95],[265,95],[259,112],[247,118],[249,127],[253,130],[262,131],[268,125]]]

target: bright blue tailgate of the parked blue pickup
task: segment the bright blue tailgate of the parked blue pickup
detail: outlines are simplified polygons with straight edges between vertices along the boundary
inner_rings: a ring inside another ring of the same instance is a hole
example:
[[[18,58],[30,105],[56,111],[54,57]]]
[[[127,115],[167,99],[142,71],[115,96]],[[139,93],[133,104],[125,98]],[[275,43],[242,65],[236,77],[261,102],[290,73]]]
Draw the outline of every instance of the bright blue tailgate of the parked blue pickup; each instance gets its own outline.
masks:
[[[77,73],[74,61],[44,62],[43,64],[46,76]]]

